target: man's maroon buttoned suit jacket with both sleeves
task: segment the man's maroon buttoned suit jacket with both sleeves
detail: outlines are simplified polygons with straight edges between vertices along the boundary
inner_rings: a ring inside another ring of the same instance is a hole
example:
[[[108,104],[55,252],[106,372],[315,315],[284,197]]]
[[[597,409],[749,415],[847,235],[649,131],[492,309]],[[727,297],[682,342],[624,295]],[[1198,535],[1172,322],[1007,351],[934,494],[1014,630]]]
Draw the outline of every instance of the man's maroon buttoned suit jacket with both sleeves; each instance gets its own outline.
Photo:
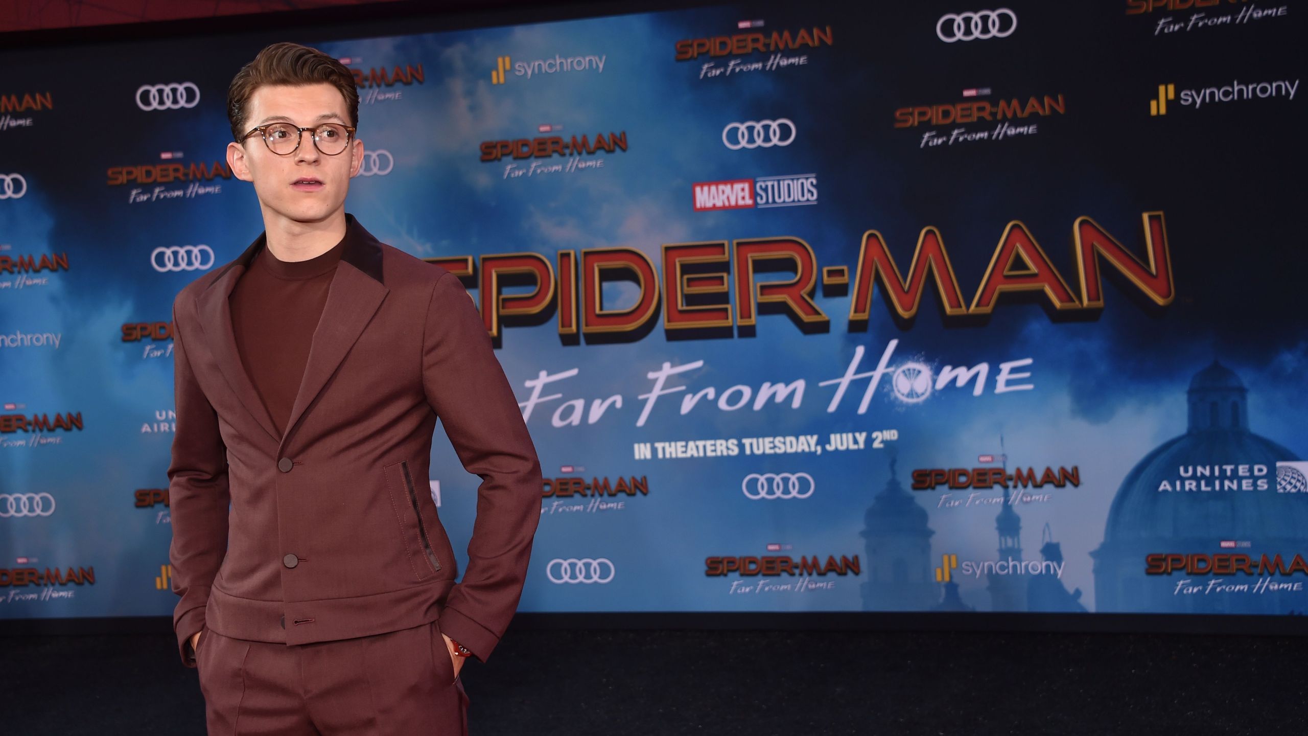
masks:
[[[285,432],[242,367],[228,306],[266,236],[173,303],[169,558],[188,667],[203,627],[303,644],[434,619],[485,660],[518,606],[540,462],[490,337],[456,276],[352,215],[345,238]],[[481,478],[458,584],[426,482],[438,418]]]

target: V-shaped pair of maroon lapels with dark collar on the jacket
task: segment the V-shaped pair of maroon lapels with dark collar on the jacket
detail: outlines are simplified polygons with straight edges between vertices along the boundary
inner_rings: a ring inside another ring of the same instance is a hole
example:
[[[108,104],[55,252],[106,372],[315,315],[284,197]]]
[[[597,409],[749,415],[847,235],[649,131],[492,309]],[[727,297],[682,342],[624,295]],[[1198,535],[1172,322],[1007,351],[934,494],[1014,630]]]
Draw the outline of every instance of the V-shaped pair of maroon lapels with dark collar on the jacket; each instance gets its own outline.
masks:
[[[327,288],[327,301],[314,330],[309,360],[300,380],[290,418],[286,420],[286,430],[279,435],[272,416],[259,399],[254,382],[241,363],[232,326],[232,308],[228,303],[241,274],[264,246],[266,237],[266,233],[260,234],[245,253],[224,267],[213,284],[198,297],[196,308],[209,348],[228,385],[255,422],[268,432],[269,437],[277,440],[280,451],[332,373],[340,367],[349,348],[358,340],[390,288],[382,283],[381,242],[364,229],[353,215],[347,213],[345,248]]]

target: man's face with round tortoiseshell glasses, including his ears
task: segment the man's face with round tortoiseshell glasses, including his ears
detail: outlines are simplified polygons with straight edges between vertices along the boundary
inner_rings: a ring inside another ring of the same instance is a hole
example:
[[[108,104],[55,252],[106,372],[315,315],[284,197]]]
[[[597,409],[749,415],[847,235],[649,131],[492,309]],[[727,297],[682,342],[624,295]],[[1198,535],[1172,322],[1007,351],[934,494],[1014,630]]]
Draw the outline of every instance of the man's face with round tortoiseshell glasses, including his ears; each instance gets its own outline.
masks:
[[[260,86],[250,97],[247,110],[242,132],[276,122],[305,128],[322,123],[351,124],[345,98],[327,83]],[[269,151],[258,131],[243,144],[228,144],[232,173],[241,181],[254,182],[266,223],[272,216],[320,223],[345,206],[349,179],[358,173],[364,160],[362,141],[353,139],[345,151],[327,156],[314,145],[313,131],[301,135],[300,148],[286,156]]]

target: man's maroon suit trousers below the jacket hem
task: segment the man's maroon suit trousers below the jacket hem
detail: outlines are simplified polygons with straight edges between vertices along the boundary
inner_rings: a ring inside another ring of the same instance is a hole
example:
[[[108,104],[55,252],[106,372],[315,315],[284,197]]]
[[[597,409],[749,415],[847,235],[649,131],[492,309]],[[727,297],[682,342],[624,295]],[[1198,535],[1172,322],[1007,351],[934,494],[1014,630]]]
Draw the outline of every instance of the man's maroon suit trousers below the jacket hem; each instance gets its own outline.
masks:
[[[468,697],[439,623],[275,644],[204,629],[195,655],[209,736],[467,736]]]

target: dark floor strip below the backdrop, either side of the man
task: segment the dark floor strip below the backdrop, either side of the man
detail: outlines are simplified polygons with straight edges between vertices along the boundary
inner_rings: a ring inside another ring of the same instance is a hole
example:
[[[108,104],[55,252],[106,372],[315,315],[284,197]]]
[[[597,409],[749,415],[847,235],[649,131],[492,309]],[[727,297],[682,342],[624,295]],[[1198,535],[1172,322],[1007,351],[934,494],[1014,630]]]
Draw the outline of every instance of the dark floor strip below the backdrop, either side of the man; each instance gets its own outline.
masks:
[[[1308,733],[1308,639],[510,631],[471,733]],[[0,639],[0,735],[203,735],[166,634]]]

